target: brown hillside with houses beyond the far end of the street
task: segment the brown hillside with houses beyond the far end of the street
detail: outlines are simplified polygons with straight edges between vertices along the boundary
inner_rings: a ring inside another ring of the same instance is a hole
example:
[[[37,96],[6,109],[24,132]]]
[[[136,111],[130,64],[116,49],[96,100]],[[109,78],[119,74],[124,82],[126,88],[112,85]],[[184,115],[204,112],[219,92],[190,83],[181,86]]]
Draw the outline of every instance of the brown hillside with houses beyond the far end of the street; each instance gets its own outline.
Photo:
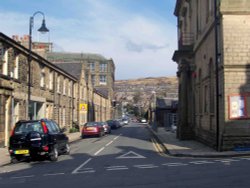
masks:
[[[115,100],[139,106],[144,111],[153,93],[159,98],[178,98],[177,77],[140,78],[115,81]]]

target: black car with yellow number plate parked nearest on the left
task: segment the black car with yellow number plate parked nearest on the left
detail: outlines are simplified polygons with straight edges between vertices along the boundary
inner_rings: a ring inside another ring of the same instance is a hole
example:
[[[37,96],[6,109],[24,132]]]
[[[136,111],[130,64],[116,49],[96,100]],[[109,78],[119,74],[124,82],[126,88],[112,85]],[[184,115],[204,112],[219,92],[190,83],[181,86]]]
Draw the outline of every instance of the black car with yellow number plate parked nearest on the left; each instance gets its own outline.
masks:
[[[13,163],[39,156],[56,161],[60,154],[69,152],[69,139],[53,120],[18,121],[10,136],[9,153]]]

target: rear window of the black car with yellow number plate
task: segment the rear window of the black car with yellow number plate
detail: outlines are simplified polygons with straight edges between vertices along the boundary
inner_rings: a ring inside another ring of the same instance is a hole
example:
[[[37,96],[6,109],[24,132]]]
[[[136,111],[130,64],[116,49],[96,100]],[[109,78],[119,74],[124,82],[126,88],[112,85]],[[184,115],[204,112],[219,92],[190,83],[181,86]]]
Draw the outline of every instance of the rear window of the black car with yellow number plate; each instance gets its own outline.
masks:
[[[31,131],[43,133],[43,128],[40,122],[24,122],[16,125],[14,134],[26,134]]]

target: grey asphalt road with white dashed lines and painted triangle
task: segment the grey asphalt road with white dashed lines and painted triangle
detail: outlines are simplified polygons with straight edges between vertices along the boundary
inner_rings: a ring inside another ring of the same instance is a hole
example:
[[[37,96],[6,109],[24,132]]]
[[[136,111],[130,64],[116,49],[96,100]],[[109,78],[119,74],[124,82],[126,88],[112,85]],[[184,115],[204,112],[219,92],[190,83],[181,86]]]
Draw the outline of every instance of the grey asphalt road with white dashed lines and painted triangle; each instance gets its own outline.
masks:
[[[145,125],[129,124],[102,138],[71,144],[57,162],[10,164],[0,187],[249,187],[250,158],[174,158],[157,150]]]

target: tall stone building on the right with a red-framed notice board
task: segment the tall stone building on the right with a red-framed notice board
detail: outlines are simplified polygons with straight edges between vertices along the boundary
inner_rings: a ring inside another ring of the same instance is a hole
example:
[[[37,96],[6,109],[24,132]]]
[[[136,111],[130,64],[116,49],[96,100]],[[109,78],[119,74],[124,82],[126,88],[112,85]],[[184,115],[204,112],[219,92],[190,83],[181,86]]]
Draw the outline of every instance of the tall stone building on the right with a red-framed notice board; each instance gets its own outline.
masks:
[[[250,1],[177,0],[180,139],[250,148]]]

